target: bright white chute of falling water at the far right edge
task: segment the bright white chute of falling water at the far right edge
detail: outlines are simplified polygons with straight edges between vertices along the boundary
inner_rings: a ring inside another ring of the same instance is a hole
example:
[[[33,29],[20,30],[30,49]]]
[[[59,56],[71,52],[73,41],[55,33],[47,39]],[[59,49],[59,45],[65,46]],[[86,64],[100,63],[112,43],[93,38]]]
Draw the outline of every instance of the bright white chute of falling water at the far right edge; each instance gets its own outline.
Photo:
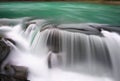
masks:
[[[118,50],[118,49],[120,47],[120,44],[119,44],[120,35],[118,33],[108,32],[105,30],[103,30],[102,33],[105,36],[105,43],[108,47],[109,54],[111,57],[112,71],[113,71],[114,77],[117,78],[117,80],[119,80],[120,79],[119,78],[119,75],[120,75],[120,70],[119,70],[120,50]]]

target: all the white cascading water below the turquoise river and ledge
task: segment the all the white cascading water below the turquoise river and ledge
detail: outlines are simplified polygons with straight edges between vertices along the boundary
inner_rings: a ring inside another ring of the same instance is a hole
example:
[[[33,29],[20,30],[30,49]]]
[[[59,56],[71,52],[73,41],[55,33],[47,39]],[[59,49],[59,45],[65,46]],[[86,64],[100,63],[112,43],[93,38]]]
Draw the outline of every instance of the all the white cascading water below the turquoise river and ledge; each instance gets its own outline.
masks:
[[[0,27],[2,40],[11,47],[2,68],[8,63],[25,66],[30,81],[119,81],[118,33],[89,27],[71,32],[59,25],[40,31],[43,23]]]

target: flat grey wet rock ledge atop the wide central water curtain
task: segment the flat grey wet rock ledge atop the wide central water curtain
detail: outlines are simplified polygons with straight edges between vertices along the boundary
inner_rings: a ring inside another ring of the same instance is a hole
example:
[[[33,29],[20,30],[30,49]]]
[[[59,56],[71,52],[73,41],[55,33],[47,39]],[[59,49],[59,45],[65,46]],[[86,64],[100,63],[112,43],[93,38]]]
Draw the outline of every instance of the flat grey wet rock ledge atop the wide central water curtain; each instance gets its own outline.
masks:
[[[94,24],[96,25],[96,24]],[[101,35],[98,28],[89,26],[89,23],[84,24],[58,24],[58,25],[48,25],[41,28],[40,31],[44,31],[46,29],[56,28],[58,30],[65,30],[69,32],[77,32],[77,33],[83,33],[87,35]]]

